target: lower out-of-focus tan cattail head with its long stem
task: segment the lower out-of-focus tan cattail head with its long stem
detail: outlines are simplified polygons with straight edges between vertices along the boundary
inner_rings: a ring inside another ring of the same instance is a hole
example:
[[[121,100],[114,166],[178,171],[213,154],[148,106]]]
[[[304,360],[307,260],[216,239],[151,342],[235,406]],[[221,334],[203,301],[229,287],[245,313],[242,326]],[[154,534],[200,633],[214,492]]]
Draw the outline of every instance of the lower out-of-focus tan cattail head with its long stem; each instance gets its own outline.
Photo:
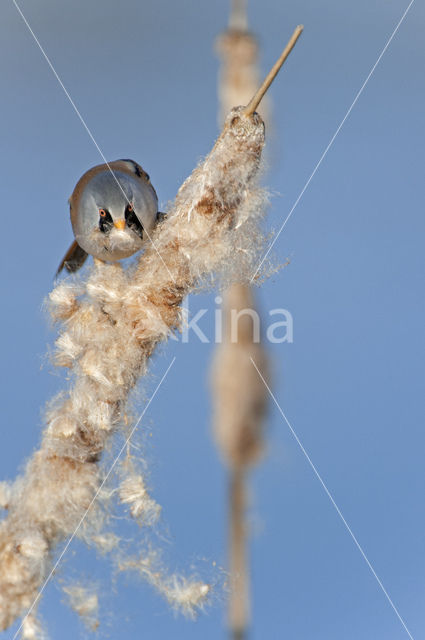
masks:
[[[235,284],[224,298],[225,331],[213,365],[214,432],[229,469],[229,626],[244,637],[249,624],[249,571],[246,561],[246,474],[263,451],[267,391],[252,365],[267,378],[268,362],[256,341],[254,301],[249,285]],[[250,312],[254,313],[250,313]],[[237,339],[232,329],[237,322]]]

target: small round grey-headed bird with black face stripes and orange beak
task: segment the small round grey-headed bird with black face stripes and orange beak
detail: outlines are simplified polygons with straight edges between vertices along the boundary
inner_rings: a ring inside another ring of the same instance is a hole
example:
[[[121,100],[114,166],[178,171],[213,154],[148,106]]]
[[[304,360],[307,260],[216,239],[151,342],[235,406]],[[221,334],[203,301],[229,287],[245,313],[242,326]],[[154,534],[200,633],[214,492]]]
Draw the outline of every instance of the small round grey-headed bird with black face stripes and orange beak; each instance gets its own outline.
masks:
[[[158,220],[158,198],[146,171],[134,160],[89,169],[69,199],[75,240],[59,265],[73,273],[88,255],[116,261],[139,251]],[[146,237],[145,237],[146,236]]]

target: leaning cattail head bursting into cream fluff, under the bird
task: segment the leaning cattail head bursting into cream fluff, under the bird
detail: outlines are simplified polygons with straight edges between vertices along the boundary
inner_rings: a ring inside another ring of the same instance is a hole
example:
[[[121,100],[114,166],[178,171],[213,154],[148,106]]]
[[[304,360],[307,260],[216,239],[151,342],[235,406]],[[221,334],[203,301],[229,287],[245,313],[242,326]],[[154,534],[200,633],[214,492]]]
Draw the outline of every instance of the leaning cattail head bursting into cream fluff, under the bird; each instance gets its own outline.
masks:
[[[138,263],[128,270],[96,263],[87,282],[52,292],[60,323],[54,358],[69,369],[70,387],[50,404],[40,447],[0,523],[0,629],[32,605],[55,546],[83,518],[79,537],[101,534],[101,509],[92,502],[104,477],[102,453],[156,345],[180,327],[183,298],[230,267],[239,281],[249,279],[262,245],[255,178],[263,142],[260,117],[233,110]]]

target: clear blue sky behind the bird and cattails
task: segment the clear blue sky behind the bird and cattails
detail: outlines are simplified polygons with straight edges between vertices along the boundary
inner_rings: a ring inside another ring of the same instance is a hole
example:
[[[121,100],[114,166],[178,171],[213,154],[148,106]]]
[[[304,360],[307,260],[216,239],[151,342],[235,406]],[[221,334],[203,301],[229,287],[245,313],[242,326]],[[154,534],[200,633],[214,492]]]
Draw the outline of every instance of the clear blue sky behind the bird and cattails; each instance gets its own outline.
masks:
[[[305,32],[273,84],[267,228],[279,229],[408,2],[252,0],[249,21],[274,62]],[[20,7],[105,156],[134,158],[162,208],[217,135],[213,42],[228,2],[22,0]],[[288,267],[258,291],[294,318],[270,348],[273,391],[415,638],[424,637],[425,471],[423,166],[425,9],[416,0],[279,236]],[[66,381],[46,356],[43,310],[71,240],[67,199],[99,153],[10,0],[0,22],[2,100],[2,478],[37,446],[46,401]],[[190,298],[207,307],[214,293]],[[212,444],[212,344],[162,347],[145,452],[172,567],[225,564],[226,474]],[[143,403],[140,403],[142,409]],[[250,479],[252,640],[402,640],[408,634],[276,407]],[[119,578],[75,543],[60,575],[104,592],[103,637],[224,637],[224,595],[197,622]],[[55,582],[41,613],[52,638],[86,637]],[[12,637],[13,629],[2,634]]]

